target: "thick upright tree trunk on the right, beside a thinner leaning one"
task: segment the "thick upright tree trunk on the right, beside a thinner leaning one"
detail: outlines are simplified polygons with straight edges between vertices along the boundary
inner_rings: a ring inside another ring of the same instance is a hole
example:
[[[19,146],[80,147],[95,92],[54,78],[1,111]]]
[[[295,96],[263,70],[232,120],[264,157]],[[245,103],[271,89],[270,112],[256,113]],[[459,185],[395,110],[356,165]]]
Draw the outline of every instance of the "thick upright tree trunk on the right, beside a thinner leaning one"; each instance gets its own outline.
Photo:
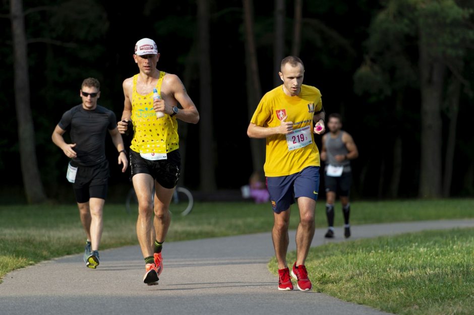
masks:
[[[441,99],[446,66],[430,54],[427,46],[428,36],[420,31],[420,84],[421,84],[421,166],[420,189],[422,198],[441,196]]]

